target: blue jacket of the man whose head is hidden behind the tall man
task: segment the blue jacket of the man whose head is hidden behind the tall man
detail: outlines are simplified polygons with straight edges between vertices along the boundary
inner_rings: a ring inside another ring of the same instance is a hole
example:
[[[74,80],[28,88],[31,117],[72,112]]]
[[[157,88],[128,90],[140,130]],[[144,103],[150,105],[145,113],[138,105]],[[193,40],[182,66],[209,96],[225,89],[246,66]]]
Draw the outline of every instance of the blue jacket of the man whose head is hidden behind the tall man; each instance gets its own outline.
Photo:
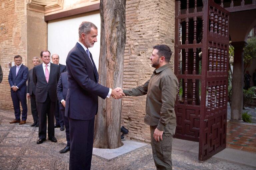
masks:
[[[60,109],[64,110],[65,108],[61,104],[61,100],[66,100],[68,92],[68,76],[67,71],[60,74],[60,79],[57,85],[57,96],[60,103]]]

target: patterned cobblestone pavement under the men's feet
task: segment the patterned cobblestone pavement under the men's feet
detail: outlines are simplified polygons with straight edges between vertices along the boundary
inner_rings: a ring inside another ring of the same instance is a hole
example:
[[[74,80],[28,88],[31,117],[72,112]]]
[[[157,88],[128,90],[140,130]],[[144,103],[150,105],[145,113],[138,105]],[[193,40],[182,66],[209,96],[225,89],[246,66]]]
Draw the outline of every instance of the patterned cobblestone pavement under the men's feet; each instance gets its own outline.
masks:
[[[32,116],[27,124],[9,124],[13,113],[0,111],[0,170],[68,170],[69,152],[58,153],[65,145],[65,132],[55,130],[58,142],[49,140],[37,145],[38,128],[30,127]],[[173,149],[174,170],[234,170],[228,162],[210,158],[198,161],[198,155]],[[234,166],[233,166],[234,167]],[[239,165],[240,169],[251,170],[250,167]],[[241,168],[242,167],[242,168]],[[150,145],[114,158],[110,161],[93,155],[92,170],[155,170]],[[239,169],[239,168],[238,168]]]

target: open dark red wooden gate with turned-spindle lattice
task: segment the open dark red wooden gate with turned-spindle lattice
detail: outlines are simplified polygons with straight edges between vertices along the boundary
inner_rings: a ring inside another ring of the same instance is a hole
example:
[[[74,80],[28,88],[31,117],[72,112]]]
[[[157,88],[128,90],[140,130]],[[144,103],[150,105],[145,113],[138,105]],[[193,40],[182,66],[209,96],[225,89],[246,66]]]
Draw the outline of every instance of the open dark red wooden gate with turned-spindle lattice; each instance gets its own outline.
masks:
[[[229,12],[212,0],[177,0],[175,137],[199,141],[199,160],[226,147]]]

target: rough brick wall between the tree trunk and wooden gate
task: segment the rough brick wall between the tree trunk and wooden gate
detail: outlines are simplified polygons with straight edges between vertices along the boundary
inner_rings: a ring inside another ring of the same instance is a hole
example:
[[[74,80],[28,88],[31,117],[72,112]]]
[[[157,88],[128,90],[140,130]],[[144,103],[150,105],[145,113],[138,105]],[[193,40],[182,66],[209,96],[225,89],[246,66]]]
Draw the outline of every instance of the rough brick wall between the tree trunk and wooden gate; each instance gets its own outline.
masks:
[[[167,44],[174,63],[175,0],[127,0],[126,45],[123,88],[144,84],[152,75],[149,57],[152,46]],[[144,123],[146,95],[125,97],[121,125],[129,129],[127,137],[150,142],[149,126]]]

